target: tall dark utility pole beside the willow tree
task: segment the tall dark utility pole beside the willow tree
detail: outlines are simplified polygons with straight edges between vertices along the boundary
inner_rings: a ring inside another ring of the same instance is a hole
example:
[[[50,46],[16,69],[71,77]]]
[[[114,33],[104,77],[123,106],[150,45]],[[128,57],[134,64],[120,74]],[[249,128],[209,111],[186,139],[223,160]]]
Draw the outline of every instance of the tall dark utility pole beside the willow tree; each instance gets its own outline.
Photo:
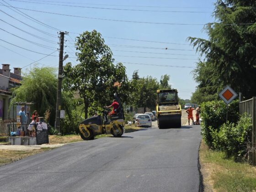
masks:
[[[58,73],[58,90],[57,90],[57,102],[56,102],[56,118],[55,118],[55,130],[60,133],[60,110],[61,110],[61,87],[63,79],[63,49],[64,49],[64,35],[67,32],[59,32],[59,73]]]

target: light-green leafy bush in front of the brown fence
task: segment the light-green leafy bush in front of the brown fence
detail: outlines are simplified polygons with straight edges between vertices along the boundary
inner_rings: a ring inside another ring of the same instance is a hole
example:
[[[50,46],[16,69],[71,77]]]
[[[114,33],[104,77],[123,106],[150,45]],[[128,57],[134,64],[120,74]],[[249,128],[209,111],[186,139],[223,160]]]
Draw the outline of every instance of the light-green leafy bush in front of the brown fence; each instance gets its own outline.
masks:
[[[224,151],[227,157],[241,160],[249,149],[251,130],[251,118],[243,114],[237,124],[224,123],[219,132],[216,129],[212,131],[213,147]]]

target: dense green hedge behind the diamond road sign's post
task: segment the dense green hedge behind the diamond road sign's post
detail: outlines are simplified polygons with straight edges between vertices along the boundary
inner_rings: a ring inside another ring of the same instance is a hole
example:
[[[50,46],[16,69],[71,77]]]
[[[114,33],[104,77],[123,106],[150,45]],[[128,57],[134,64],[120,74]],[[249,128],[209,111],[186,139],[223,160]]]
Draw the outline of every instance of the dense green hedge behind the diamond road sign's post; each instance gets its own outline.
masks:
[[[201,105],[202,136],[205,143],[212,147],[212,132],[219,132],[219,128],[226,123],[227,107],[224,101],[208,101]],[[228,121],[236,123],[239,119],[239,101],[232,101],[228,105]]]

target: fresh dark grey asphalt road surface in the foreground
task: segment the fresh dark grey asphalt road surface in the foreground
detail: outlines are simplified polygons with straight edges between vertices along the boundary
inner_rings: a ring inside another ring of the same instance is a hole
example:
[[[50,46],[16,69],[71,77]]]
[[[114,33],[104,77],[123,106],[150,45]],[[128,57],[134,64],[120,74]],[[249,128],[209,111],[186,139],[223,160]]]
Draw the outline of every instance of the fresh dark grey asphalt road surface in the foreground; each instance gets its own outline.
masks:
[[[0,191],[198,192],[200,127],[155,126],[1,166]]]

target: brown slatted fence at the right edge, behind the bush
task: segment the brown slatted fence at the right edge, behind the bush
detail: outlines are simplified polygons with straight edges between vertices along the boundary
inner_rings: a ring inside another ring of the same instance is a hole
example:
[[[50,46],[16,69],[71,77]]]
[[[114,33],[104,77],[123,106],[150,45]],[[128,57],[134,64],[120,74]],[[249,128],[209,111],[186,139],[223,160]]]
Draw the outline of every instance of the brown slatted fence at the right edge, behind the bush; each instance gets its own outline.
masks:
[[[252,149],[256,149],[256,97],[252,97],[249,100],[242,101],[239,103],[240,114],[248,113],[251,115],[252,121],[252,133],[251,133],[251,144]],[[256,165],[256,151],[252,150],[249,154],[249,159],[253,165]]]

